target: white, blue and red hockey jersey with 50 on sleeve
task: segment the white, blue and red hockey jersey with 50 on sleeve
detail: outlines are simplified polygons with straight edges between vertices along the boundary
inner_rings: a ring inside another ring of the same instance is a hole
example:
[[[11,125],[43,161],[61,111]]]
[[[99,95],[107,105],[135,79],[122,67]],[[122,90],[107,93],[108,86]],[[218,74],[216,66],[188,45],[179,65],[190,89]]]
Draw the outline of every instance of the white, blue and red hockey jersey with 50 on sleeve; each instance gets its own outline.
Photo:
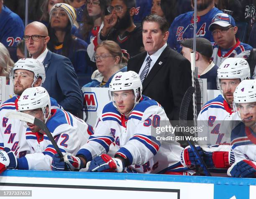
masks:
[[[151,128],[158,122],[169,119],[161,105],[149,97],[134,107],[128,119],[120,114],[113,102],[105,105],[95,127],[95,134],[77,153],[86,157],[87,162],[100,154],[108,153],[111,143],[118,147],[116,156],[128,162],[127,172],[188,174],[182,166],[180,155],[182,147],[175,141],[159,142],[151,134]]]

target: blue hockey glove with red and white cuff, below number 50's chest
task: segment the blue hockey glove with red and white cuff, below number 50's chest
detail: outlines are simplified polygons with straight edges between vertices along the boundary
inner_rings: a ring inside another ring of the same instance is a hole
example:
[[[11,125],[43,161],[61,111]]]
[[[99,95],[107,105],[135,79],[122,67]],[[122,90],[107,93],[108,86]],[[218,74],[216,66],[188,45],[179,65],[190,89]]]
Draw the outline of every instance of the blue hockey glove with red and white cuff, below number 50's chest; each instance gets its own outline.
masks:
[[[118,158],[112,158],[107,154],[102,154],[92,159],[88,169],[88,172],[123,172],[123,171],[124,171],[124,165],[122,160]]]

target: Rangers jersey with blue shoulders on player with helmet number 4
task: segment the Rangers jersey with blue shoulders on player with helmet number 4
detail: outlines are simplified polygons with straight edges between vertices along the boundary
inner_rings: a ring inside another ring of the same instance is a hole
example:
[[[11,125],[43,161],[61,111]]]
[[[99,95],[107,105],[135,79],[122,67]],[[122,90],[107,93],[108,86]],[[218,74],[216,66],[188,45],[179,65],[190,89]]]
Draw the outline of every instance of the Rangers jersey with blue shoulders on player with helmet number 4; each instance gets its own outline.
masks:
[[[231,132],[231,146],[236,162],[248,159],[256,162],[256,133],[240,122]]]

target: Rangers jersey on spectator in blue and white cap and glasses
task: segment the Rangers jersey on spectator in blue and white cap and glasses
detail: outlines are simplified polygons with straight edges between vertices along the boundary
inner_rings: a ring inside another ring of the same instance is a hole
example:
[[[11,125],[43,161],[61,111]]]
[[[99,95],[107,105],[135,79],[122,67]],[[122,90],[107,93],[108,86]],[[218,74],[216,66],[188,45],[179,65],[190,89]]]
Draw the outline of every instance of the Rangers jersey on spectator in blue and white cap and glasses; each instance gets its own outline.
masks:
[[[221,49],[217,44],[214,43],[212,47],[212,61],[217,66],[220,66],[220,64],[228,57],[240,57],[243,59],[247,59],[252,49],[250,45],[242,43],[238,39],[236,39],[236,45],[232,49],[230,49],[224,56],[222,55]]]

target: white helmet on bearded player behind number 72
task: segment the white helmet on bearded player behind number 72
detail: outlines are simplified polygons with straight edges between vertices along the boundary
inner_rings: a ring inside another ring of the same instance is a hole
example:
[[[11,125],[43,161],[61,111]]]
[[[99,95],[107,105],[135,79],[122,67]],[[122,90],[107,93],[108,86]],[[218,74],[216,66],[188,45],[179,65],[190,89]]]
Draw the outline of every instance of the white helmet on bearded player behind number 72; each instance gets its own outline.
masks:
[[[14,80],[14,71],[18,69],[23,69],[23,70],[29,70],[34,73],[34,81],[32,83],[32,87],[36,80],[41,77],[42,78],[42,84],[44,83],[45,80],[45,70],[44,70],[44,65],[39,62],[38,60],[31,59],[31,58],[24,58],[18,60],[13,67],[13,70],[11,72],[11,77]]]

